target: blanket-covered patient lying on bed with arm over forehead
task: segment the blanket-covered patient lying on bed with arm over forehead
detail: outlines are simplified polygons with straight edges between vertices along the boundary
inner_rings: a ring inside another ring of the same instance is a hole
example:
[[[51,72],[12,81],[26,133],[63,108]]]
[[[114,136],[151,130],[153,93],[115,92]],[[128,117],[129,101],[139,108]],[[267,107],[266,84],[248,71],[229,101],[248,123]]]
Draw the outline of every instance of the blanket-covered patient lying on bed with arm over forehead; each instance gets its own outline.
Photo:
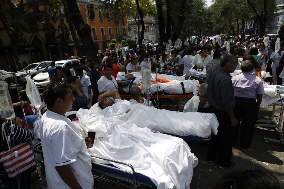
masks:
[[[114,100],[107,97],[110,95],[113,95]],[[159,110],[141,103],[133,105],[127,100],[121,100],[116,90],[100,95],[98,102],[103,109],[101,114],[104,117],[114,117],[127,123],[135,123],[138,127],[147,127],[153,131],[179,136],[193,135],[206,138],[211,132],[217,134],[218,121],[212,113],[181,113]]]

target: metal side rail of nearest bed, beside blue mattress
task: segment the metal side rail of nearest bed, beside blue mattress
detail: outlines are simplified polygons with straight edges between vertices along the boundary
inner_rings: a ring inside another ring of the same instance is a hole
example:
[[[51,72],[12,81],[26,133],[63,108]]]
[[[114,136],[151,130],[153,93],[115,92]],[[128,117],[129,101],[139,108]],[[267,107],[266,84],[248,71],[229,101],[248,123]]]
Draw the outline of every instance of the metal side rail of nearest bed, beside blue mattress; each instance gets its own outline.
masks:
[[[126,163],[126,162],[122,162],[122,161],[117,161],[117,160],[114,160],[114,159],[100,157],[100,156],[97,156],[97,155],[94,155],[94,154],[90,154],[90,155],[91,155],[91,157],[94,157],[94,158],[103,159],[103,160],[106,160],[106,161],[109,161],[109,162],[114,162],[114,163],[118,163],[118,164],[122,164],[122,165],[126,165],[126,166],[130,167],[132,172],[131,171],[122,170],[122,169],[117,168],[117,167],[111,167],[111,166],[106,165],[106,164],[102,164],[102,163],[98,163],[98,162],[92,161],[93,164],[96,164],[96,165],[99,165],[99,166],[102,166],[102,167],[106,167],[108,169],[124,172],[124,173],[127,173],[127,174],[132,174],[133,175],[133,187],[125,185],[125,184],[122,184],[122,183],[117,183],[117,182],[115,182],[113,180],[109,180],[109,179],[106,179],[106,178],[103,178],[103,177],[100,177],[100,176],[97,176],[97,175],[93,175],[94,178],[99,179],[99,180],[104,180],[105,182],[112,183],[114,185],[118,185],[118,186],[122,186],[122,187],[126,187],[126,188],[137,189],[138,184],[137,184],[137,180],[136,180],[135,170],[134,170],[134,168],[133,168],[133,166],[131,164]]]

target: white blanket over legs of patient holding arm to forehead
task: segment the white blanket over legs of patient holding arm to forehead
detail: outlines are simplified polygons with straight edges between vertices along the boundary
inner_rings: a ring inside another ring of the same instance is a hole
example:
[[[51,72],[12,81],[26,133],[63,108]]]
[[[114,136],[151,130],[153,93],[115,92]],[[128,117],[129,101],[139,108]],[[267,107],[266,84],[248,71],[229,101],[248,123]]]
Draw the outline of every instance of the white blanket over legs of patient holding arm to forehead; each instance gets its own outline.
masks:
[[[116,118],[138,127],[178,136],[200,136],[206,138],[211,131],[217,135],[218,120],[213,113],[174,112],[135,104],[131,110]]]

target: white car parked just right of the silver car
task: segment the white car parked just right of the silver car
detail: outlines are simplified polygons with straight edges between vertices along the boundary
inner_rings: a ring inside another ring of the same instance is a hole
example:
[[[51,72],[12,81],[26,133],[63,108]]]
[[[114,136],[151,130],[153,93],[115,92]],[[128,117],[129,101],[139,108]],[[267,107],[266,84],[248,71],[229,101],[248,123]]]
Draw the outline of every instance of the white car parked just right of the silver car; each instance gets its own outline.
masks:
[[[68,66],[71,68],[72,63],[73,62],[80,62],[77,59],[72,59],[72,60],[60,60],[60,61],[56,61],[55,62],[55,67],[56,66],[61,66],[62,68],[65,68],[65,66]],[[50,78],[48,75],[48,68],[51,66],[51,64],[49,64],[48,66],[46,66],[45,69],[43,69],[43,71],[39,74],[37,74],[36,76],[33,77],[33,81],[35,82],[36,86],[40,86],[40,85],[45,85],[48,84],[50,82]]]

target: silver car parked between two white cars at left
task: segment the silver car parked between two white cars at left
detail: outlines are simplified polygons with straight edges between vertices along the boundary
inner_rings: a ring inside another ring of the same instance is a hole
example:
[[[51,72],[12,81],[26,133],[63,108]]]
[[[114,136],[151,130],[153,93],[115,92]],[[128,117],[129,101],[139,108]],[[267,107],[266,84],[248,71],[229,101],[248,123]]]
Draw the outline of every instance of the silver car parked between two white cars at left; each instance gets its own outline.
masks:
[[[30,77],[33,78],[36,74],[43,71],[43,69],[49,65],[51,61],[42,61],[42,62],[36,62],[29,64],[27,67],[25,67],[22,71],[16,73],[18,84],[25,85],[27,83],[25,76],[27,76],[27,73],[25,71],[30,72]],[[14,78],[13,78],[14,80]]]

